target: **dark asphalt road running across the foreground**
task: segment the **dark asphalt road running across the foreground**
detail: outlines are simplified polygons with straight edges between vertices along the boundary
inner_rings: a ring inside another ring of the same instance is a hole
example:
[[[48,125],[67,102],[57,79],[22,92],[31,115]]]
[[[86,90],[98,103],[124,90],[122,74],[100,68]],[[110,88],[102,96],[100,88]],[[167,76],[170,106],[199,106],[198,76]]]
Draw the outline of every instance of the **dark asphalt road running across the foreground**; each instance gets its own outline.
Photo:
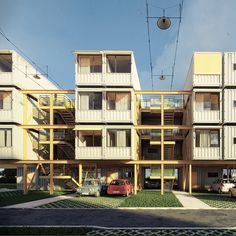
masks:
[[[0,209],[0,226],[235,227],[235,210]]]

